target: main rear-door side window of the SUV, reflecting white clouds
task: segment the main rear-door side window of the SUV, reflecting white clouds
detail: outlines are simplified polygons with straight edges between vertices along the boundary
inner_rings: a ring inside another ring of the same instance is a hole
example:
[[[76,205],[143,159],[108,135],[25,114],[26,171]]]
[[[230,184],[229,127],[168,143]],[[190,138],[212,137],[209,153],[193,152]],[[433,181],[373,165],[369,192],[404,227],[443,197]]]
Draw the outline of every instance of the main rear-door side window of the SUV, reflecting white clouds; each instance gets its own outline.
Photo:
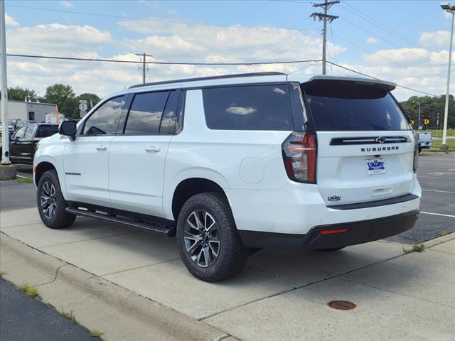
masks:
[[[158,134],[168,94],[169,92],[148,92],[135,95],[129,109],[125,134]]]

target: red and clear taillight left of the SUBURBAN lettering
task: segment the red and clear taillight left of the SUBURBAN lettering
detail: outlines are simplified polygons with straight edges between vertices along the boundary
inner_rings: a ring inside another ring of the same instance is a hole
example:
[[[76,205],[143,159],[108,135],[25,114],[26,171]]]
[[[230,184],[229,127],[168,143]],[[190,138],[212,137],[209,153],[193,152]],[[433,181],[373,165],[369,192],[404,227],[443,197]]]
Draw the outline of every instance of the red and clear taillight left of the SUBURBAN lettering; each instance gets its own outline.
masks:
[[[289,179],[316,183],[316,134],[294,131],[282,144],[284,167]]]

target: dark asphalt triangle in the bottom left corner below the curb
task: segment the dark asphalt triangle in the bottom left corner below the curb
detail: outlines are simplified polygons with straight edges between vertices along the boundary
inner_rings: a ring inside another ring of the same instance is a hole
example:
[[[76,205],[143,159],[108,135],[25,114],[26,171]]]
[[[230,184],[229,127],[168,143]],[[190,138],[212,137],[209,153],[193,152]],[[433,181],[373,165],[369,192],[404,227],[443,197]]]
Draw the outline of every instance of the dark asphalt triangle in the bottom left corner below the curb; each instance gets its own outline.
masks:
[[[54,308],[26,296],[0,278],[0,340],[101,340],[60,315]]]

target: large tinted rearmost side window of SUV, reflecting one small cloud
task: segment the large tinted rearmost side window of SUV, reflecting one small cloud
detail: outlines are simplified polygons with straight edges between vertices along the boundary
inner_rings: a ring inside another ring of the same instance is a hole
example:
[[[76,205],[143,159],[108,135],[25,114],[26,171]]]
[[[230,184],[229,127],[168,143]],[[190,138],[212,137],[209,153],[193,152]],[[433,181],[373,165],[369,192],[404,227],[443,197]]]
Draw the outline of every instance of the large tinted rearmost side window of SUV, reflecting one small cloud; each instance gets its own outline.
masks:
[[[210,129],[292,130],[286,85],[203,89]]]

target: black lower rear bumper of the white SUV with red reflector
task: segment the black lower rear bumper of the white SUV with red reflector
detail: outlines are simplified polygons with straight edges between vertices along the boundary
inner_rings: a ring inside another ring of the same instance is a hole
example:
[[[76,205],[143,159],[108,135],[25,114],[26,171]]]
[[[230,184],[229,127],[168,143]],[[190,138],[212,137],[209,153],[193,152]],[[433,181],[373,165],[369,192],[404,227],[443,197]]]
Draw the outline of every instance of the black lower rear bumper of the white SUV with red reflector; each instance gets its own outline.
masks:
[[[252,248],[279,249],[335,249],[348,245],[372,242],[411,229],[419,215],[412,210],[400,215],[392,215],[360,222],[346,222],[313,227],[307,234],[285,234],[239,230],[242,242]],[[321,234],[323,231],[348,229],[347,232]]]

